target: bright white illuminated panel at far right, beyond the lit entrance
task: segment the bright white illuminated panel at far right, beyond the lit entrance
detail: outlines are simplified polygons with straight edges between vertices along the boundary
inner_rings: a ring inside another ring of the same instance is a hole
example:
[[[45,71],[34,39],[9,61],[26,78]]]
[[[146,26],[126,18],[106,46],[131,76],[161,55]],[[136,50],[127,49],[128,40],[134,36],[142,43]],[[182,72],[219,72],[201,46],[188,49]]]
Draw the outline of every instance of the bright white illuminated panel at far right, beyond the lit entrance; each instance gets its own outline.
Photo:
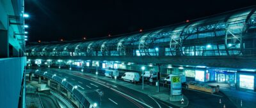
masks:
[[[237,71],[237,86],[239,89],[256,91],[256,74],[252,71]]]

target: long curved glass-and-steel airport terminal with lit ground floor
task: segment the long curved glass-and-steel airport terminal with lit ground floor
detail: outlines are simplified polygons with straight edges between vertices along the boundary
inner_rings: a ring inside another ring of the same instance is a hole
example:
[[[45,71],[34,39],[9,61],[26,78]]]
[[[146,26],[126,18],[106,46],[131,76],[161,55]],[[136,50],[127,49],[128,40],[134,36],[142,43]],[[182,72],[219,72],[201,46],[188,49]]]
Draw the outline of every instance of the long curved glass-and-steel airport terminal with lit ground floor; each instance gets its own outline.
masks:
[[[30,43],[29,65],[183,74],[256,91],[256,6],[118,36]]]

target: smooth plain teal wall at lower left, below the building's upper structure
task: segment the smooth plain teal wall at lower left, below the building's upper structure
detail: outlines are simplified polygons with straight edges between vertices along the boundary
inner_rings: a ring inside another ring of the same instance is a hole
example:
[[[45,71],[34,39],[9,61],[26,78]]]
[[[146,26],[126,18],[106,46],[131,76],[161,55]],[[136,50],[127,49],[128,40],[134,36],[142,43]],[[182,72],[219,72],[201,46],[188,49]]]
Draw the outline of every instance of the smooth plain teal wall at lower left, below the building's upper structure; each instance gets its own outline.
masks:
[[[18,107],[26,57],[0,58],[0,107]]]

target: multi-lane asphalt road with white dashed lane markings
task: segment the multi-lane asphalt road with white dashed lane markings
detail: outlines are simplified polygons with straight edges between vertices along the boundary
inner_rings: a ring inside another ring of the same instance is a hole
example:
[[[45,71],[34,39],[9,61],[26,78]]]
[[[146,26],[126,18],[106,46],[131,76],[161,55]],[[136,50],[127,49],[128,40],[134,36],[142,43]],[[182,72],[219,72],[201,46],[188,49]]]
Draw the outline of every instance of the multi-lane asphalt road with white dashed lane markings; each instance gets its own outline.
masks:
[[[41,69],[40,71],[47,71],[66,78],[69,83],[77,85],[77,89],[83,95],[97,103],[98,107],[175,107],[144,93],[90,76],[81,77],[65,70]],[[100,93],[103,95],[100,96]]]

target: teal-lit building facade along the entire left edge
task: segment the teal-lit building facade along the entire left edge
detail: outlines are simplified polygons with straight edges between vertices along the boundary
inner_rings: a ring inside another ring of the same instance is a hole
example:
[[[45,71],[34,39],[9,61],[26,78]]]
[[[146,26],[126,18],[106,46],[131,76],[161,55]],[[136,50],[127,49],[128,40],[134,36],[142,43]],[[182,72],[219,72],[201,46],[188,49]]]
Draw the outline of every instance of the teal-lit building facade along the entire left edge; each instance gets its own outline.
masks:
[[[0,0],[0,107],[26,107],[23,3]]]

